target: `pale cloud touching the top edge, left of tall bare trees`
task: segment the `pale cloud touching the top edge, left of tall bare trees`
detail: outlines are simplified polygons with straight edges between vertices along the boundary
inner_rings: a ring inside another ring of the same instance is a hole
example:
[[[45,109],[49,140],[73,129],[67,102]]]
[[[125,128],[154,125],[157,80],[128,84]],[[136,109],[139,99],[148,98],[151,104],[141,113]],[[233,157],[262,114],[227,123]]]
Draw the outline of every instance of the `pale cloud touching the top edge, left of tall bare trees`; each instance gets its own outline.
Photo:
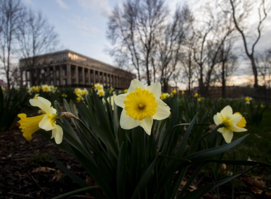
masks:
[[[109,17],[111,14],[111,7],[108,0],[77,0],[77,2],[85,9],[92,11],[99,10],[104,17]]]

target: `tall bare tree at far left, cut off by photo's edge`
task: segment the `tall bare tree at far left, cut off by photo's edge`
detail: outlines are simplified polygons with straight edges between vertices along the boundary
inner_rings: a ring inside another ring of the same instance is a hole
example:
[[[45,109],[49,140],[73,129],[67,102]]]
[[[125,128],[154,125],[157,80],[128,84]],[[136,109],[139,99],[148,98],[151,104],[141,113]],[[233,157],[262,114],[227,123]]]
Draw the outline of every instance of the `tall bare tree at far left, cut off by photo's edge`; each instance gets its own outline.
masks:
[[[11,66],[14,54],[15,33],[18,28],[19,19],[23,18],[23,6],[20,1],[0,1],[0,60],[1,69],[5,71],[8,89],[11,86]]]

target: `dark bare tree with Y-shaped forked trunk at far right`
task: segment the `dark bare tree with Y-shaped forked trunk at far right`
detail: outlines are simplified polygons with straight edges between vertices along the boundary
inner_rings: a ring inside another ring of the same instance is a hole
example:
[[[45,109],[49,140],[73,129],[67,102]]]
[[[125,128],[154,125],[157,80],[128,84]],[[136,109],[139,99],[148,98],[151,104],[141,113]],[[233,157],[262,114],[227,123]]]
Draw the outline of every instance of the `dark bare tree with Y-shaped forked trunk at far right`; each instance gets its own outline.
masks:
[[[261,37],[261,32],[263,29],[263,21],[266,19],[267,13],[269,10],[266,10],[265,0],[261,0],[260,5],[258,7],[259,23],[257,25],[257,37],[251,46],[251,50],[249,50],[247,35],[245,33],[245,28],[244,28],[245,26],[244,18],[245,16],[248,16],[249,14],[251,14],[250,11],[251,11],[252,5],[248,6],[250,3],[245,0],[243,0],[244,2],[236,1],[236,0],[229,0],[229,1],[231,4],[231,10],[232,10],[231,12],[234,19],[235,27],[238,30],[238,32],[241,34],[246,55],[251,61],[251,66],[252,66],[253,75],[254,75],[254,88],[257,88],[258,87],[258,79],[257,79],[258,72],[257,72],[257,66],[255,62],[254,51],[255,51],[255,46]],[[241,3],[243,3],[244,5],[242,8],[240,8]],[[240,12],[239,14],[237,13],[238,11]]]

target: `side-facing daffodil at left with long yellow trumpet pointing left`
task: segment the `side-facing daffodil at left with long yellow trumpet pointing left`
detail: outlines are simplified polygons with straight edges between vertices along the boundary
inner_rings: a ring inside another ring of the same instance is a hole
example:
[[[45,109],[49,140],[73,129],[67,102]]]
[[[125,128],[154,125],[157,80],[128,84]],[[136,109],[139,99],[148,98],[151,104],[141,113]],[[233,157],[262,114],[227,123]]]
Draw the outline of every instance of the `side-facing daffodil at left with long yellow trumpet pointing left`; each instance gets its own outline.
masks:
[[[51,102],[43,97],[38,97],[38,99],[30,99],[30,104],[32,106],[37,106],[45,112],[45,114],[35,116],[35,117],[26,117],[26,114],[18,114],[20,120],[19,128],[23,132],[23,137],[27,140],[32,139],[32,134],[39,129],[44,129],[45,131],[52,130],[51,138],[55,138],[55,142],[60,144],[62,142],[63,130],[61,126],[55,123],[58,114],[56,109],[51,107]]]

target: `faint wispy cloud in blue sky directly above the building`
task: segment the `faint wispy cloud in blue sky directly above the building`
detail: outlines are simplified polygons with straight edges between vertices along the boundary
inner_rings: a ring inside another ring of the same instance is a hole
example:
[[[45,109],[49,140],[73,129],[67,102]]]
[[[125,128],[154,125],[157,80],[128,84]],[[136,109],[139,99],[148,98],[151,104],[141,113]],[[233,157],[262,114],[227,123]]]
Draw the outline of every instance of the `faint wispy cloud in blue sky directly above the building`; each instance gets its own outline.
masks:
[[[75,25],[83,36],[89,37],[101,32],[100,29],[91,24],[91,20],[87,17],[72,16],[72,18],[69,18],[64,15],[61,15],[61,17]]]

